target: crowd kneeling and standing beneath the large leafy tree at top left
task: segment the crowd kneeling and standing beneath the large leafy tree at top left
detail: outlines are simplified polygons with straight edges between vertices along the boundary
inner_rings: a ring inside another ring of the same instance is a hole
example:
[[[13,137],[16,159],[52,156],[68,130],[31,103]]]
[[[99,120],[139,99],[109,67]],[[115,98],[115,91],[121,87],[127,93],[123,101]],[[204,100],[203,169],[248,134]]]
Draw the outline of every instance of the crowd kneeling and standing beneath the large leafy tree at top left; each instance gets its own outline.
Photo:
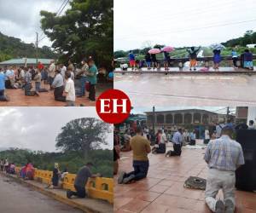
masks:
[[[37,67],[33,66],[5,66],[0,67],[0,101],[9,101],[5,95],[5,89],[24,89],[27,96],[39,96],[40,92],[54,90],[55,101],[67,102],[67,107],[75,106],[76,96],[85,96],[86,88],[89,91],[89,100],[96,101],[96,83],[98,70],[94,60],[82,60],[82,68],[79,72],[73,66],[71,60],[68,66],[55,64],[51,60],[49,67],[40,61]],[[80,91],[76,94],[75,78],[80,79]],[[32,81],[35,89],[32,90]],[[41,83],[49,84],[49,89],[41,88]]]

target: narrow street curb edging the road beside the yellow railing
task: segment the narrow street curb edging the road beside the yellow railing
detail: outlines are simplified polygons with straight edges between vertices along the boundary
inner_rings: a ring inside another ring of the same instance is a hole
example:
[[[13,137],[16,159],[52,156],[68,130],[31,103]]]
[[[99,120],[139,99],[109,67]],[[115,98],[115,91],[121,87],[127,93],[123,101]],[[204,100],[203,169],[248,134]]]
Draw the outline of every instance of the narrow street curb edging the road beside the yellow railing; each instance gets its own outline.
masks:
[[[58,195],[58,194],[53,193],[53,192],[48,191],[48,190],[46,191],[46,190],[44,190],[44,188],[35,186],[32,183],[30,183],[29,181],[23,181],[22,179],[20,179],[18,177],[15,177],[15,176],[12,176],[12,175],[9,175],[9,174],[5,174],[3,172],[1,172],[1,175],[9,177],[9,178],[13,179],[16,182],[18,182],[22,185],[25,185],[26,187],[32,187],[35,191],[37,191],[39,193],[43,193],[44,195],[47,195],[50,198],[56,199],[56,200],[60,201],[61,203],[71,205],[71,206],[73,206],[73,208],[83,210],[86,213],[103,213],[103,212],[106,212],[106,211],[103,211],[103,210],[102,211],[94,210],[94,209],[92,209],[88,206],[85,206],[83,204],[79,204],[79,203],[75,202],[72,199],[66,199],[66,198],[62,197],[61,195]]]

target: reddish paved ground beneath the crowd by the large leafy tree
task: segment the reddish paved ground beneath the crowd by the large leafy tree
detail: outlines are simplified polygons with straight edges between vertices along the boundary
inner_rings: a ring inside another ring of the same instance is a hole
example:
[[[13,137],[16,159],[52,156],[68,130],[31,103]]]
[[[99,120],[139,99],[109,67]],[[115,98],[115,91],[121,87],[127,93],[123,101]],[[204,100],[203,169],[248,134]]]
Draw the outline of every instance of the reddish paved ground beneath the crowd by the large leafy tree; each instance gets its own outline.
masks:
[[[49,85],[43,85],[41,88],[49,89]],[[96,97],[102,94],[107,89],[112,89],[111,83],[99,83],[96,86]],[[33,90],[33,89],[32,89]],[[0,107],[64,107],[65,102],[55,101],[53,90],[46,93],[39,93],[39,96],[25,96],[23,89],[6,89],[10,101],[0,101]],[[89,93],[86,97],[76,98],[76,106],[83,105],[84,107],[95,107],[96,102],[88,99]]]

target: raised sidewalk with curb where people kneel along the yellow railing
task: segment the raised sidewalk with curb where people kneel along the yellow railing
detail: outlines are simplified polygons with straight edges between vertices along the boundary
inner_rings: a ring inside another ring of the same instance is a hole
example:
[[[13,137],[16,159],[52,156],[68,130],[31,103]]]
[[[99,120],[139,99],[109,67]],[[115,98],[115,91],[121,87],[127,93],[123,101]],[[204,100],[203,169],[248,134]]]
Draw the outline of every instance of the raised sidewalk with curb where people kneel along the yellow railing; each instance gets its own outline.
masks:
[[[102,212],[102,213],[112,213],[113,205],[109,204],[108,201],[101,199],[67,199],[66,190],[63,189],[45,189],[46,185],[38,181],[23,181],[16,176],[6,175],[5,173],[0,173],[1,176],[7,176],[20,184],[26,185],[26,187],[32,187],[40,193],[48,195],[52,199],[61,201],[62,203],[69,204],[74,208],[83,210],[84,212]]]

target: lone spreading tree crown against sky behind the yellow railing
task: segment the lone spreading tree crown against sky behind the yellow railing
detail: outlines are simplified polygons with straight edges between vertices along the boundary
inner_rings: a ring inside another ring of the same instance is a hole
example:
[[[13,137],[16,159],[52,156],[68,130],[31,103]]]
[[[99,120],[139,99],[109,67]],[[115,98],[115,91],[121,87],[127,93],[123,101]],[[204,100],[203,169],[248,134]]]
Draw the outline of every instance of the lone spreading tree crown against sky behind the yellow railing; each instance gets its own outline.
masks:
[[[55,147],[64,152],[83,151],[86,158],[88,151],[107,144],[107,133],[111,130],[110,124],[96,118],[79,118],[70,121],[61,128],[56,137]]]

